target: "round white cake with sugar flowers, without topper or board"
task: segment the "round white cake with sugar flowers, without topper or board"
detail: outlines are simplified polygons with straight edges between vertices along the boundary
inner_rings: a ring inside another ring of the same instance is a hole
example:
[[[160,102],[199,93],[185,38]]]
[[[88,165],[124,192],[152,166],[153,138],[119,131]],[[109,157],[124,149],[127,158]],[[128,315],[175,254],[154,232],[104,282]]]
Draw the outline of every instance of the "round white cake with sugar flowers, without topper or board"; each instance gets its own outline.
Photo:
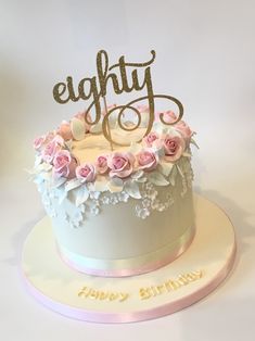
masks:
[[[166,123],[176,121],[171,111],[163,114]],[[100,276],[130,276],[171,262],[195,231],[193,131],[183,121],[164,125],[156,114],[140,143],[111,151],[100,124],[88,126],[84,115],[34,142],[34,181],[61,256]],[[119,135],[116,127],[112,132]]]

